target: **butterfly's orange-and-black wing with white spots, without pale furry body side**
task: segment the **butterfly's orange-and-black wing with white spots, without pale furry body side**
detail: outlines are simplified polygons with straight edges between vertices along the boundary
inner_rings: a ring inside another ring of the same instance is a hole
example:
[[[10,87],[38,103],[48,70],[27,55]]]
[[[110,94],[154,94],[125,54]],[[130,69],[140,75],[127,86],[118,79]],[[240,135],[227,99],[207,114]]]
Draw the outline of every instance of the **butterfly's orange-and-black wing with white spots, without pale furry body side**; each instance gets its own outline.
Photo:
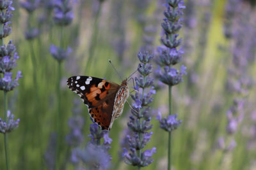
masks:
[[[83,99],[93,122],[108,130],[119,85],[91,76],[72,76],[67,80],[68,88]]]

